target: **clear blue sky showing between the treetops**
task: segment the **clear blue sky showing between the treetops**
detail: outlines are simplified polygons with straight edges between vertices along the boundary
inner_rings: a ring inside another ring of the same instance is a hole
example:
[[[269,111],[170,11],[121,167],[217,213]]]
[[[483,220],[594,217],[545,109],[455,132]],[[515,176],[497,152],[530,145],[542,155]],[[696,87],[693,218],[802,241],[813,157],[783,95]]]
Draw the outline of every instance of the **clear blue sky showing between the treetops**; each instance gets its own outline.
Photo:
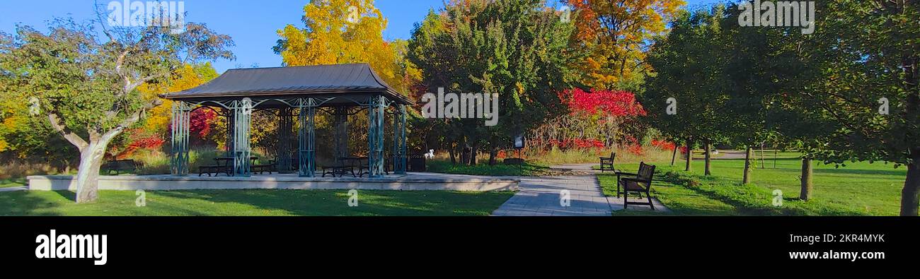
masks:
[[[121,0],[123,1],[123,0]],[[430,9],[438,10],[444,0],[376,0],[389,21],[384,39],[408,39],[413,25]],[[725,0],[684,0],[687,6],[708,5]],[[108,5],[108,0],[96,0]],[[281,56],[271,47],[279,39],[276,30],[288,24],[303,27],[301,17],[309,0],[185,0],[187,22],[205,23],[214,31],[230,35],[236,61],[216,61],[218,73],[227,69],[276,67]],[[0,31],[13,33],[17,24],[45,30],[53,17],[73,17],[77,21],[96,18],[93,0],[0,0]]]

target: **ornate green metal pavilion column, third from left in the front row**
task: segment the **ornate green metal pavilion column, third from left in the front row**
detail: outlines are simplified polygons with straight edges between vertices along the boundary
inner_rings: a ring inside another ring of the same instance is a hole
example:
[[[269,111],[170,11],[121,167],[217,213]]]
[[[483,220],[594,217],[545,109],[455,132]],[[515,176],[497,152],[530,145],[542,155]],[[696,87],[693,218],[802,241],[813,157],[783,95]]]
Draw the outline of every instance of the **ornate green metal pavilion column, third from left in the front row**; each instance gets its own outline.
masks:
[[[300,128],[297,130],[298,157],[300,159],[300,177],[316,177],[316,99],[306,98],[297,101],[300,113],[297,120]]]

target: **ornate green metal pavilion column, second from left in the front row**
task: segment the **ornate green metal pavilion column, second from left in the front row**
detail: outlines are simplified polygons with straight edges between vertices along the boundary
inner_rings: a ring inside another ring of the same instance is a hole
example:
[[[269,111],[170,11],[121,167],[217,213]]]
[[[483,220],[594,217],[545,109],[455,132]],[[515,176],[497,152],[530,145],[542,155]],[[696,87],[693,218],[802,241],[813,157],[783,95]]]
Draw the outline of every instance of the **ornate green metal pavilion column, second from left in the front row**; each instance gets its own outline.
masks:
[[[252,120],[252,100],[243,98],[241,101],[233,102],[234,116],[234,153],[233,153],[233,173],[234,176],[250,176],[249,157],[252,151],[249,146],[249,125]]]

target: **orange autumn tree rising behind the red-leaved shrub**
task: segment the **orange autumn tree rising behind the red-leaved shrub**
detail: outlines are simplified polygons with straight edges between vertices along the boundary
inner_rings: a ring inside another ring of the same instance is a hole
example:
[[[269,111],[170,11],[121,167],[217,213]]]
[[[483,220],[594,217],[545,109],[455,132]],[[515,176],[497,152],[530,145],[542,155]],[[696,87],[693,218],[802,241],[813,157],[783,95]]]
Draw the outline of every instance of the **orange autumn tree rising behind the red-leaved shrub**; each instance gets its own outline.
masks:
[[[649,43],[667,30],[682,0],[566,0],[577,28],[573,46],[586,48],[581,83],[609,89],[629,83],[647,72]],[[623,88],[620,88],[623,89]]]

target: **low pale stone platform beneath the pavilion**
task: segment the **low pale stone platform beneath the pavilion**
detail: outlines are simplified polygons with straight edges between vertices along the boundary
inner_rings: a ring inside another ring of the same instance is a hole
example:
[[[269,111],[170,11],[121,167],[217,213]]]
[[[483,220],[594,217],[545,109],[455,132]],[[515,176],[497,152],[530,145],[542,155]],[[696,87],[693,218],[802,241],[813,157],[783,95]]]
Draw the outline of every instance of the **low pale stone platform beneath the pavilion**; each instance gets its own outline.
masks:
[[[73,177],[69,175],[29,176],[29,190],[75,191]],[[516,191],[521,180],[517,177],[477,176],[446,173],[408,173],[385,175],[380,178],[352,177],[298,177],[293,174],[254,174],[250,177],[234,176],[174,176],[119,175],[99,176],[99,190],[170,191],[219,189],[295,189],[295,190],[405,190],[405,191]]]

